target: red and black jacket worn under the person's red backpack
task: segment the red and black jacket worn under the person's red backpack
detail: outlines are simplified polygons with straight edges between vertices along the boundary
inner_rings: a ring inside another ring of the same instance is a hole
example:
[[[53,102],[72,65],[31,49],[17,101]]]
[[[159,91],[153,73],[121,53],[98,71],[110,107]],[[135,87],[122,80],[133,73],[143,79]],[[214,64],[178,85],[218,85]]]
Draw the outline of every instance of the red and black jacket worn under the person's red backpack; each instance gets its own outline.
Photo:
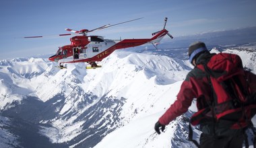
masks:
[[[207,63],[208,61],[210,61],[213,55],[214,54],[209,53],[200,54],[196,61],[198,67],[202,66],[200,65],[201,63]],[[251,77],[251,81],[249,81],[249,86],[251,88],[251,92],[253,92],[254,94],[256,90],[256,75],[249,72],[247,75]],[[243,85],[243,87],[247,87],[246,84]],[[195,68],[189,72],[185,81],[183,81],[179,94],[177,95],[177,100],[160,117],[159,122],[163,125],[169,124],[169,122],[174,120],[174,118],[176,118],[177,116],[181,116],[181,114],[187,112],[194,98],[197,98],[198,110],[206,108],[208,104],[210,104],[210,100],[213,100],[212,97],[212,88],[210,82],[208,81],[207,75],[201,69]]]

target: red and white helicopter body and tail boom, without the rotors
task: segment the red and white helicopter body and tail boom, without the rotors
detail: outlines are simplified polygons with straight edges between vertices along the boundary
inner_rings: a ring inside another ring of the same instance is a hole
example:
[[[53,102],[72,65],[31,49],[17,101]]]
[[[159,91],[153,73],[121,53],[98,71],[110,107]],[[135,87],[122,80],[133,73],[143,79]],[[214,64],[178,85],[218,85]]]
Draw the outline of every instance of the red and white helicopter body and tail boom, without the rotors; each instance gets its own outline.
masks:
[[[74,36],[71,38],[71,45],[60,47],[55,55],[49,57],[49,60],[58,62],[60,65],[79,62],[94,63],[102,61],[117,49],[159,42],[166,34],[168,31],[164,29],[154,34],[152,38],[119,41],[104,39],[102,36]]]

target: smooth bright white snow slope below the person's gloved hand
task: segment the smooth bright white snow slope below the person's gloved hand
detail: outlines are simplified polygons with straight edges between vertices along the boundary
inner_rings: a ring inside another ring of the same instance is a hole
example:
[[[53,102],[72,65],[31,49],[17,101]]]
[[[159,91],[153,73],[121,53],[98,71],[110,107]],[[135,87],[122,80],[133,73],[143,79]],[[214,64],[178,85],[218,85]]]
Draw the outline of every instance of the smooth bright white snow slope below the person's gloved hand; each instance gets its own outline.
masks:
[[[160,114],[137,118],[137,120],[131,121],[127,126],[110,133],[104,141],[99,143],[96,147],[143,147],[147,139],[154,139],[158,136],[154,128],[152,128],[154,127],[154,122],[150,122],[152,119],[157,120],[158,116],[160,116]],[[119,135],[119,133],[123,133],[123,135]],[[113,141],[113,139],[115,139],[115,141]],[[143,143],[143,141],[145,143]],[[162,143],[168,143],[168,145],[170,145],[170,141],[166,141],[166,139],[163,139]],[[161,144],[155,146],[162,147]]]

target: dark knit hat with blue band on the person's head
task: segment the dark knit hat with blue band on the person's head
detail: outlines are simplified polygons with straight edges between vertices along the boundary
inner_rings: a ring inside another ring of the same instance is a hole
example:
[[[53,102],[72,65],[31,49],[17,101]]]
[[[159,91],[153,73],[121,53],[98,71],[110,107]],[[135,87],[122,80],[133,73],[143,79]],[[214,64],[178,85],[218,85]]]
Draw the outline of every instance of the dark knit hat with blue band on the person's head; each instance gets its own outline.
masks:
[[[207,51],[207,48],[203,42],[194,42],[189,46],[189,62],[192,63],[193,59],[200,52]]]

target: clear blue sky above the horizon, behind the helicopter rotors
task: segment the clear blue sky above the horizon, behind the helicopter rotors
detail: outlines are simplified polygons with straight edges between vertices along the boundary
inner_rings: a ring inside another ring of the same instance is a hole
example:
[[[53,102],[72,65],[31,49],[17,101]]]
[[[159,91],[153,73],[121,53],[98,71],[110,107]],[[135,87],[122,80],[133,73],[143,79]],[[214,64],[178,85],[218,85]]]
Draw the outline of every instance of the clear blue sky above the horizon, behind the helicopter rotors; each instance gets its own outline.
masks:
[[[69,38],[50,35],[98,28],[143,17],[92,32],[104,38],[151,38],[162,29],[172,36],[256,26],[255,0],[3,0],[0,1],[0,60],[55,53]],[[22,36],[50,36],[24,39]],[[174,40],[173,39],[173,40]]]

